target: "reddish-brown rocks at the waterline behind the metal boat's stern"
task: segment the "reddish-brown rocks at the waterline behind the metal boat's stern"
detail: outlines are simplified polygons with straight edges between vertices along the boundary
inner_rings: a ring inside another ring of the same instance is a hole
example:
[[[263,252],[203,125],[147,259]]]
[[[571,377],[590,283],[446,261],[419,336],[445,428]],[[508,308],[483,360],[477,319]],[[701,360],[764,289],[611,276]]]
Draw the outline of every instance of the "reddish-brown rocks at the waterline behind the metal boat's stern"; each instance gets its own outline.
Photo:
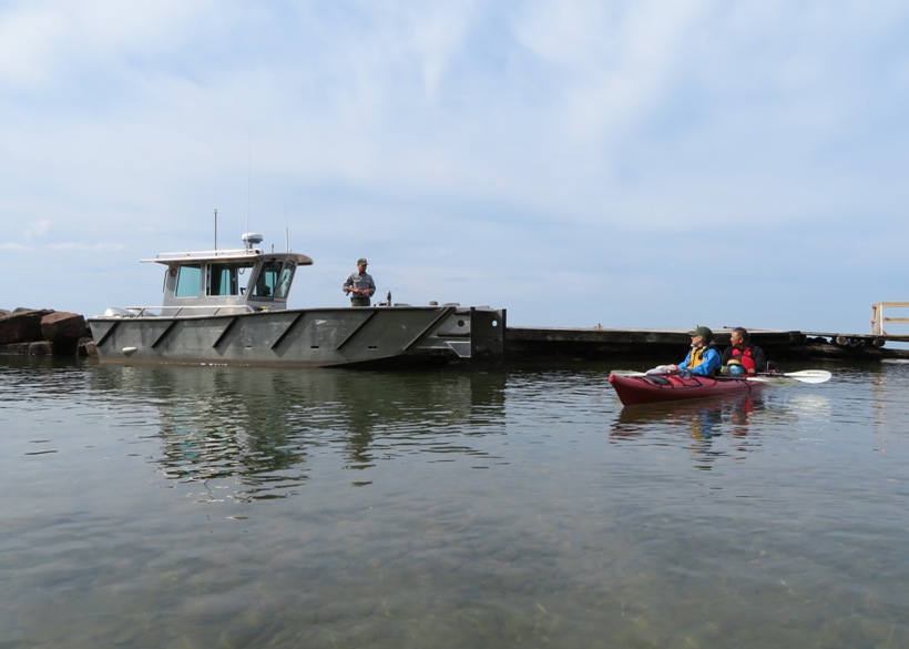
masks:
[[[85,317],[52,308],[0,308],[0,354],[95,356]]]

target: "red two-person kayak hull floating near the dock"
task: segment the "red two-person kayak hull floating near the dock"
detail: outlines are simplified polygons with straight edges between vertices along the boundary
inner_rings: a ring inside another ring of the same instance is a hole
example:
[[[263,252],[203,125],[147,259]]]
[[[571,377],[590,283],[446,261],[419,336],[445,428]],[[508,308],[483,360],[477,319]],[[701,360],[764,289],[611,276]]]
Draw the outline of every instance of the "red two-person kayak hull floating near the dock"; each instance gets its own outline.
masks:
[[[623,405],[656,404],[682,399],[748,393],[755,385],[746,378],[711,378],[692,376],[682,378],[676,375],[623,376],[610,374],[610,383],[615,388]]]

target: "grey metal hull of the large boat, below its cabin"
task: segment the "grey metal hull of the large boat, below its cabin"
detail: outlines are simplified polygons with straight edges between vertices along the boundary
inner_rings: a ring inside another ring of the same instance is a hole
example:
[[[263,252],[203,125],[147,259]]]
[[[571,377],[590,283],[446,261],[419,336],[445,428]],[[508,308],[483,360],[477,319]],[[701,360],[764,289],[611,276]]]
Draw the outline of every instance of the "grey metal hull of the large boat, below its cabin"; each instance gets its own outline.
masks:
[[[504,320],[504,310],[441,305],[105,315],[89,324],[102,363],[341,367],[497,361]]]

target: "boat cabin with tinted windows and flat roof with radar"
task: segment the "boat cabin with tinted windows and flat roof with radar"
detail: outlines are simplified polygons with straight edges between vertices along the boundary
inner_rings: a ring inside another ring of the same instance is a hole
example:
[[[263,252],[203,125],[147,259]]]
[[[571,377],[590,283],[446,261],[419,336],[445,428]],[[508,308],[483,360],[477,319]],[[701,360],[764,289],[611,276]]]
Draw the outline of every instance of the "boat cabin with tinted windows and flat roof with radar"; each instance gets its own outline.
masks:
[[[242,250],[161,253],[153,260],[142,260],[167,266],[163,308],[155,315],[223,315],[286,308],[297,266],[311,265],[313,260],[292,252],[265,253],[255,247],[262,241],[261,234],[247,233],[243,235],[246,247]]]

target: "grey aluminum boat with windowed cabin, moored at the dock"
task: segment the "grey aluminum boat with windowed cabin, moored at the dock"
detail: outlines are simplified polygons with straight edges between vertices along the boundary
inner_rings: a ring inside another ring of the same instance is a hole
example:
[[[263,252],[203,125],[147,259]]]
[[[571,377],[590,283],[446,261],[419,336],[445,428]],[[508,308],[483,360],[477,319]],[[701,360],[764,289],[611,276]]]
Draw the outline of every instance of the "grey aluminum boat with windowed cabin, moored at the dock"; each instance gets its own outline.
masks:
[[[287,308],[297,271],[313,264],[294,252],[245,247],[162,253],[160,306],[109,308],[89,318],[102,363],[259,366],[389,366],[498,362],[505,310],[386,303],[366,307]]]

